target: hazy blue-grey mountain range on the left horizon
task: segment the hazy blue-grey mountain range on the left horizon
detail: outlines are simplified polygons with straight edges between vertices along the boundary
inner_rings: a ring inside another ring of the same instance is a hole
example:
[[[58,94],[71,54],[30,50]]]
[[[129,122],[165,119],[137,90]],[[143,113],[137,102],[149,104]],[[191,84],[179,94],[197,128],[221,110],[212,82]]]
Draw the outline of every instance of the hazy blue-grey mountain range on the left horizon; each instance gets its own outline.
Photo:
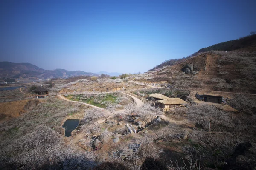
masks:
[[[44,70],[30,63],[0,62],[0,77],[5,78],[47,79],[68,78],[79,75],[98,76],[98,74],[84,71],[67,71],[64,69]]]

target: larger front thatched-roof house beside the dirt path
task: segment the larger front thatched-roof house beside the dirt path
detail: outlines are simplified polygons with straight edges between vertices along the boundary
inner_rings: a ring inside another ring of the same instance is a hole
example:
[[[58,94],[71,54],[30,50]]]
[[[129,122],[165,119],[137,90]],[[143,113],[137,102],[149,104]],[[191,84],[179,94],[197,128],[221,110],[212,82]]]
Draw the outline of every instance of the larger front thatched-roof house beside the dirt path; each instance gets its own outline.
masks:
[[[184,107],[185,104],[184,100],[180,98],[168,98],[163,100],[157,100],[156,101],[156,107],[163,108],[164,110],[168,110],[170,108],[176,108],[176,107]]]

